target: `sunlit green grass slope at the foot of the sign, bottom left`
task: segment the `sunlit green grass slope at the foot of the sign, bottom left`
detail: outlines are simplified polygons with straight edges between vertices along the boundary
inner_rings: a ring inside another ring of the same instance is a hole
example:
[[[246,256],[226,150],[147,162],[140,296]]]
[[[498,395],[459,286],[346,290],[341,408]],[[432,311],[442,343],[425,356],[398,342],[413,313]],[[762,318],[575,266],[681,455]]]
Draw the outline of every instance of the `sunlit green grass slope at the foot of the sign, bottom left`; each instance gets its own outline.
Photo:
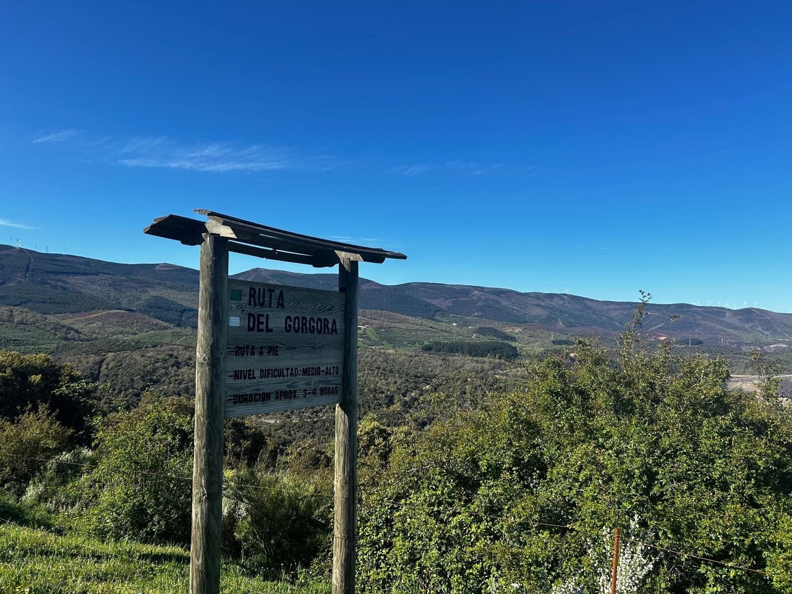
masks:
[[[176,546],[102,543],[79,535],[2,523],[0,592],[109,594],[110,592],[187,592],[189,554]],[[223,564],[220,590],[249,592],[329,592],[329,584],[295,587],[248,577]]]

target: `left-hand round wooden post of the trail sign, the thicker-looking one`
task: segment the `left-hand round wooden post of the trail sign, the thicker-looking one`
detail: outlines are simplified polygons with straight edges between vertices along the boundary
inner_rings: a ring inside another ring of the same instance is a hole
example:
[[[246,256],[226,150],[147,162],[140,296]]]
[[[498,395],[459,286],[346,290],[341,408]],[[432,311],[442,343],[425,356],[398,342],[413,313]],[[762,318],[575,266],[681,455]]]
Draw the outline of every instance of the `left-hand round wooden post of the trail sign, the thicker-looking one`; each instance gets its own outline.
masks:
[[[211,234],[203,237],[198,295],[190,594],[219,594],[228,239]]]

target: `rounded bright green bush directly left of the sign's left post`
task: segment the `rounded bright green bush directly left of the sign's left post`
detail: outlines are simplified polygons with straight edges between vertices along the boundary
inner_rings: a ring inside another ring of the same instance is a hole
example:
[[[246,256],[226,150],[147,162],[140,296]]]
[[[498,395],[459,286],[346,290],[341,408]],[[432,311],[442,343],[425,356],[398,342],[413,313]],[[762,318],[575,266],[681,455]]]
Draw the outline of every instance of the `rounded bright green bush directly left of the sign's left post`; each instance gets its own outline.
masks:
[[[97,432],[97,468],[81,481],[86,525],[105,538],[188,543],[192,402],[147,394]]]

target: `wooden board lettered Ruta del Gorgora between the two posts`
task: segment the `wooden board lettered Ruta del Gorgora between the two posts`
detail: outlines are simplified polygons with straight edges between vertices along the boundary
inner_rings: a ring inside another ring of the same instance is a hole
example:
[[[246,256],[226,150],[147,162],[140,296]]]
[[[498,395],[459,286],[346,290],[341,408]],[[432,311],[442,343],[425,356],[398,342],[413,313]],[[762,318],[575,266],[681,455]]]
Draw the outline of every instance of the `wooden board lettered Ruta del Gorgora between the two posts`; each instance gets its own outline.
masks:
[[[228,280],[225,416],[341,402],[346,294]]]

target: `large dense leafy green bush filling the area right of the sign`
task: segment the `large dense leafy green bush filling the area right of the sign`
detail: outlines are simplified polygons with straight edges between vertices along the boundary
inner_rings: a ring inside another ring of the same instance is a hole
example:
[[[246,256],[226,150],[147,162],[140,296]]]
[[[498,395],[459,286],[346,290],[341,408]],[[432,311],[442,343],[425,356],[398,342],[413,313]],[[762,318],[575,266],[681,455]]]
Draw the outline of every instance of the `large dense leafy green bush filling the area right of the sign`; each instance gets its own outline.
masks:
[[[652,544],[727,565],[663,554],[634,592],[792,592],[790,413],[726,390],[722,360],[645,350],[641,313],[618,364],[581,341],[400,440],[362,489],[362,587],[598,592],[591,543],[637,515]]]

